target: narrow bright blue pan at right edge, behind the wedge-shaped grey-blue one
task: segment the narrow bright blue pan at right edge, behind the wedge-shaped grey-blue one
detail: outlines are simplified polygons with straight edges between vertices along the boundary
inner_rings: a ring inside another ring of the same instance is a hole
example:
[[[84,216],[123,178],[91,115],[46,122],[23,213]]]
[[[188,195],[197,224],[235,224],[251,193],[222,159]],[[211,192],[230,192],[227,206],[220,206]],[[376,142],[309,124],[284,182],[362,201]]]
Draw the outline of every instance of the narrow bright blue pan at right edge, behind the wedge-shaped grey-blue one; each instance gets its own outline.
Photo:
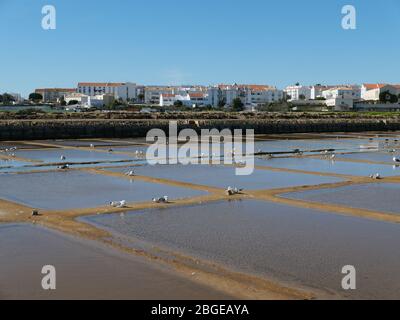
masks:
[[[382,177],[400,175],[400,168],[385,164],[355,163],[313,158],[275,158],[269,160],[256,158],[255,163],[260,166],[365,177],[375,173],[380,173]]]

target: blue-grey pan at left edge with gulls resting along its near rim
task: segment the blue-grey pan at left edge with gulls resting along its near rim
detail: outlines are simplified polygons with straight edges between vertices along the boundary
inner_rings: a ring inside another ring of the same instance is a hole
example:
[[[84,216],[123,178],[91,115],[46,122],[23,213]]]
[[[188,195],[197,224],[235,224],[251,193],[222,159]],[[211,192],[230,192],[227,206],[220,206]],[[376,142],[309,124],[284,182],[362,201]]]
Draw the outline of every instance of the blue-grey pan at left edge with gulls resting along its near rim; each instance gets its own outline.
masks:
[[[197,190],[81,171],[3,174],[1,182],[0,198],[49,210],[90,208],[121,200],[144,202],[164,195],[178,199],[206,194]]]

